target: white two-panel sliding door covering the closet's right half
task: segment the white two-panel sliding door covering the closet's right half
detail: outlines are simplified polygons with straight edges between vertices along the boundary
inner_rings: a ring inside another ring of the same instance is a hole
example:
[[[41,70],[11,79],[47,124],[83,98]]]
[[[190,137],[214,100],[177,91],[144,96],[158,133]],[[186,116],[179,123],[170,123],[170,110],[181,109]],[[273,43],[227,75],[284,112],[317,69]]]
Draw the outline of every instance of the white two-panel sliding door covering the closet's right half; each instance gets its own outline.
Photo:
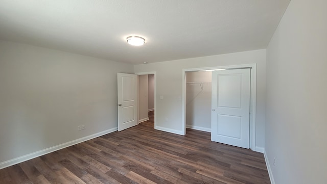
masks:
[[[212,72],[211,140],[249,148],[250,69]]]

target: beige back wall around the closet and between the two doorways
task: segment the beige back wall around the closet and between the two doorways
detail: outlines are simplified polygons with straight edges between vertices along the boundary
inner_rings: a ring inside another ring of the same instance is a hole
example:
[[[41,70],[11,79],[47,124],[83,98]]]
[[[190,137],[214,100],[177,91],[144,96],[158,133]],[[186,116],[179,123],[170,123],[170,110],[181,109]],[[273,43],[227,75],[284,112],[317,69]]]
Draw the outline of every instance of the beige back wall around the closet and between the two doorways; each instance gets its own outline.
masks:
[[[135,65],[135,72],[156,71],[157,129],[182,134],[182,70],[256,63],[256,146],[264,147],[266,49]],[[160,100],[160,96],[164,99]]]

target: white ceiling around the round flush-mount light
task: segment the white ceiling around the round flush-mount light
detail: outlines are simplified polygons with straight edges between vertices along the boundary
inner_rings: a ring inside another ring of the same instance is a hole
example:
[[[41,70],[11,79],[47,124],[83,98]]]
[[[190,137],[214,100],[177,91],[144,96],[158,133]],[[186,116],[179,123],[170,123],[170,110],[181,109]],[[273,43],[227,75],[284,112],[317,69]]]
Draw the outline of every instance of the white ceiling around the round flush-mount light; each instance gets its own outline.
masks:
[[[266,48],[289,2],[0,0],[0,39],[131,64],[195,58]]]

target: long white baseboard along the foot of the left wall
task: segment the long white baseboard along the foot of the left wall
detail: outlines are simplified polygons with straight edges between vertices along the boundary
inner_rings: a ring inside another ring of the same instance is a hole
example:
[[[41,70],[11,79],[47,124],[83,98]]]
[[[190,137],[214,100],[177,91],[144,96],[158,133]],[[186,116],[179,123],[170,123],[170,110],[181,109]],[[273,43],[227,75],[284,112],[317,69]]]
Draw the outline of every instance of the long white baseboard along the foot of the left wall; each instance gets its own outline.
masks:
[[[81,143],[81,142],[84,142],[84,141],[87,141],[87,140],[90,140],[90,139],[94,139],[94,138],[97,138],[97,137],[100,137],[100,136],[115,132],[116,130],[118,130],[118,127],[107,129],[107,130],[104,130],[104,131],[96,133],[96,134],[92,134],[92,135],[89,135],[89,136],[86,136],[86,137],[82,137],[82,138],[79,138],[79,139],[76,139],[76,140],[73,140],[73,141],[69,141],[69,142],[66,142],[66,143],[63,143],[63,144],[59,144],[59,145],[56,145],[56,146],[53,146],[53,147],[50,147],[50,148],[42,149],[42,150],[30,153],[30,154],[22,155],[22,156],[19,156],[19,157],[15,158],[15,159],[4,161],[4,162],[0,163],[0,169],[9,167],[9,166],[12,166],[12,165],[15,165],[15,164],[19,164],[21,162],[25,162],[25,161],[34,159],[35,157],[42,156],[44,154],[48,154],[48,153],[57,151],[59,149],[63,149],[63,148],[69,147],[69,146],[73,146],[75,144],[78,144],[78,143]]]

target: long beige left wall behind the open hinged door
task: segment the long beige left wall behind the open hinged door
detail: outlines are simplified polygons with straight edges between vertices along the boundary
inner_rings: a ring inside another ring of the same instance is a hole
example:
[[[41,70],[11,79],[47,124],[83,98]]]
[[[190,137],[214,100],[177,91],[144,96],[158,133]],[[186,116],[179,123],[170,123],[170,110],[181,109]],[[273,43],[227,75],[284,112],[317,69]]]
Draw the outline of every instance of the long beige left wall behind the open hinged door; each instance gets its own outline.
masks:
[[[116,128],[117,72],[133,66],[0,41],[0,164]]]

